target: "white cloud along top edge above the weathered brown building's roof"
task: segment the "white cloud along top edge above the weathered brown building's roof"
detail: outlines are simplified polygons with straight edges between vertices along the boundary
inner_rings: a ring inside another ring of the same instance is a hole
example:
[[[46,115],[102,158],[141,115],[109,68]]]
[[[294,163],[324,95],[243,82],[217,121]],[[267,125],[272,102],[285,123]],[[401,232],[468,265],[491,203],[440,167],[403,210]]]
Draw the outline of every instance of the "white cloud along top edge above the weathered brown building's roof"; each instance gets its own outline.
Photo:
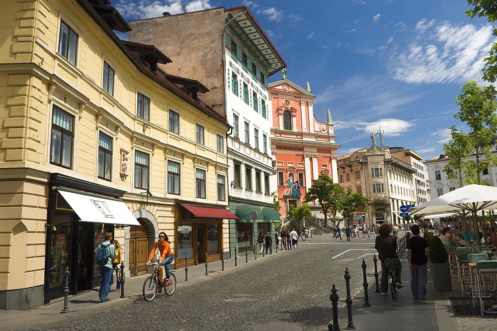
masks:
[[[115,3],[116,9],[131,20],[160,17],[167,11],[172,15],[186,11],[197,11],[212,8],[210,0],[156,0],[149,2],[134,2],[133,0],[120,0]]]

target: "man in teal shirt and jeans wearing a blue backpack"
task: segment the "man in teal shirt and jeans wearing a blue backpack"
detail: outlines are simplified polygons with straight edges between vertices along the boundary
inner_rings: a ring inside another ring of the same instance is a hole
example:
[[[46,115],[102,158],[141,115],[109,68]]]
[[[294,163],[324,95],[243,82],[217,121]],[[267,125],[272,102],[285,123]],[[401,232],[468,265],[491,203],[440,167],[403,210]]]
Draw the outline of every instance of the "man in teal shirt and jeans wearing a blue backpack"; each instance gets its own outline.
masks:
[[[114,245],[111,244],[112,232],[106,232],[103,235],[103,242],[98,244],[95,248],[95,260],[98,269],[100,270],[100,276],[102,280],[100,282],[100,292],[98,296],[100,297],[100,302],[110,301],[107,295],[110,292],[110,280],[114,269],[112,268],[112,261],[116,257],[116,249]]]

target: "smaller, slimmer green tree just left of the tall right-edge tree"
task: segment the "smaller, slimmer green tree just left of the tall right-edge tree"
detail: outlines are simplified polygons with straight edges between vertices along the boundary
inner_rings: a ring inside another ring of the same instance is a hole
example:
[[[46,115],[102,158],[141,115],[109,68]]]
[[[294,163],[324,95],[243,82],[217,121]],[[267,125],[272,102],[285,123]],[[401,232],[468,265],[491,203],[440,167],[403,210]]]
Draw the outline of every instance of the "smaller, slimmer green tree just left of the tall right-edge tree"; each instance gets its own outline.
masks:
[[[443,151],[449,158],[449,163],[443,168],[443,172],[450,179],[457,180],[459,187],[463,187],[466,179],[466,159],[471,156],[468,136],[462,130],[457,130],[453,125],[450,127],[451,139],[443,144]]]

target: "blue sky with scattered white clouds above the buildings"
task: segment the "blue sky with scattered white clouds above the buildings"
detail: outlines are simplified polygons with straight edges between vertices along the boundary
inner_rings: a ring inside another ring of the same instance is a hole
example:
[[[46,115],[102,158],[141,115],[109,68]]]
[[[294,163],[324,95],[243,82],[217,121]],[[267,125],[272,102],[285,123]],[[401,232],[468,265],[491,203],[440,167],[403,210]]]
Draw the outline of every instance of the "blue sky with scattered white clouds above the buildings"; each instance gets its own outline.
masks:
[[[448,115],[458,110],[455,97],[467,81],[486,84],[483,58],[495,40],[486,19],[466,17],[466,0],[111,1],[128,21],[247,6],[286,61],[287,78],[309,82],[318,120],[330,109],[338,155],[370,146],[380,125],[385,145],[425,160],[442,153],[449,126],[463,128]]]

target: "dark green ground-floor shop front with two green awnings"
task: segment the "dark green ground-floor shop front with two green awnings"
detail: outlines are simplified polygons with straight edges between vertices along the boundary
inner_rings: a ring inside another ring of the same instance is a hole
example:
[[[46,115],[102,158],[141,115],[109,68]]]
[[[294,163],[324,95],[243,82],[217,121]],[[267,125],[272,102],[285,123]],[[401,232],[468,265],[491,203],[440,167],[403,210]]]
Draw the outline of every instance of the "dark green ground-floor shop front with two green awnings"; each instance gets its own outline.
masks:
[[[260,233],[269,232],[275,248],[274,225],[280,222],[280,216],[273,204],[254,204],[230,197],[230,211],[238,217],[230,220],[230,258],[235,256],[235,248],[237,255],[246,251],[253,254]]]

